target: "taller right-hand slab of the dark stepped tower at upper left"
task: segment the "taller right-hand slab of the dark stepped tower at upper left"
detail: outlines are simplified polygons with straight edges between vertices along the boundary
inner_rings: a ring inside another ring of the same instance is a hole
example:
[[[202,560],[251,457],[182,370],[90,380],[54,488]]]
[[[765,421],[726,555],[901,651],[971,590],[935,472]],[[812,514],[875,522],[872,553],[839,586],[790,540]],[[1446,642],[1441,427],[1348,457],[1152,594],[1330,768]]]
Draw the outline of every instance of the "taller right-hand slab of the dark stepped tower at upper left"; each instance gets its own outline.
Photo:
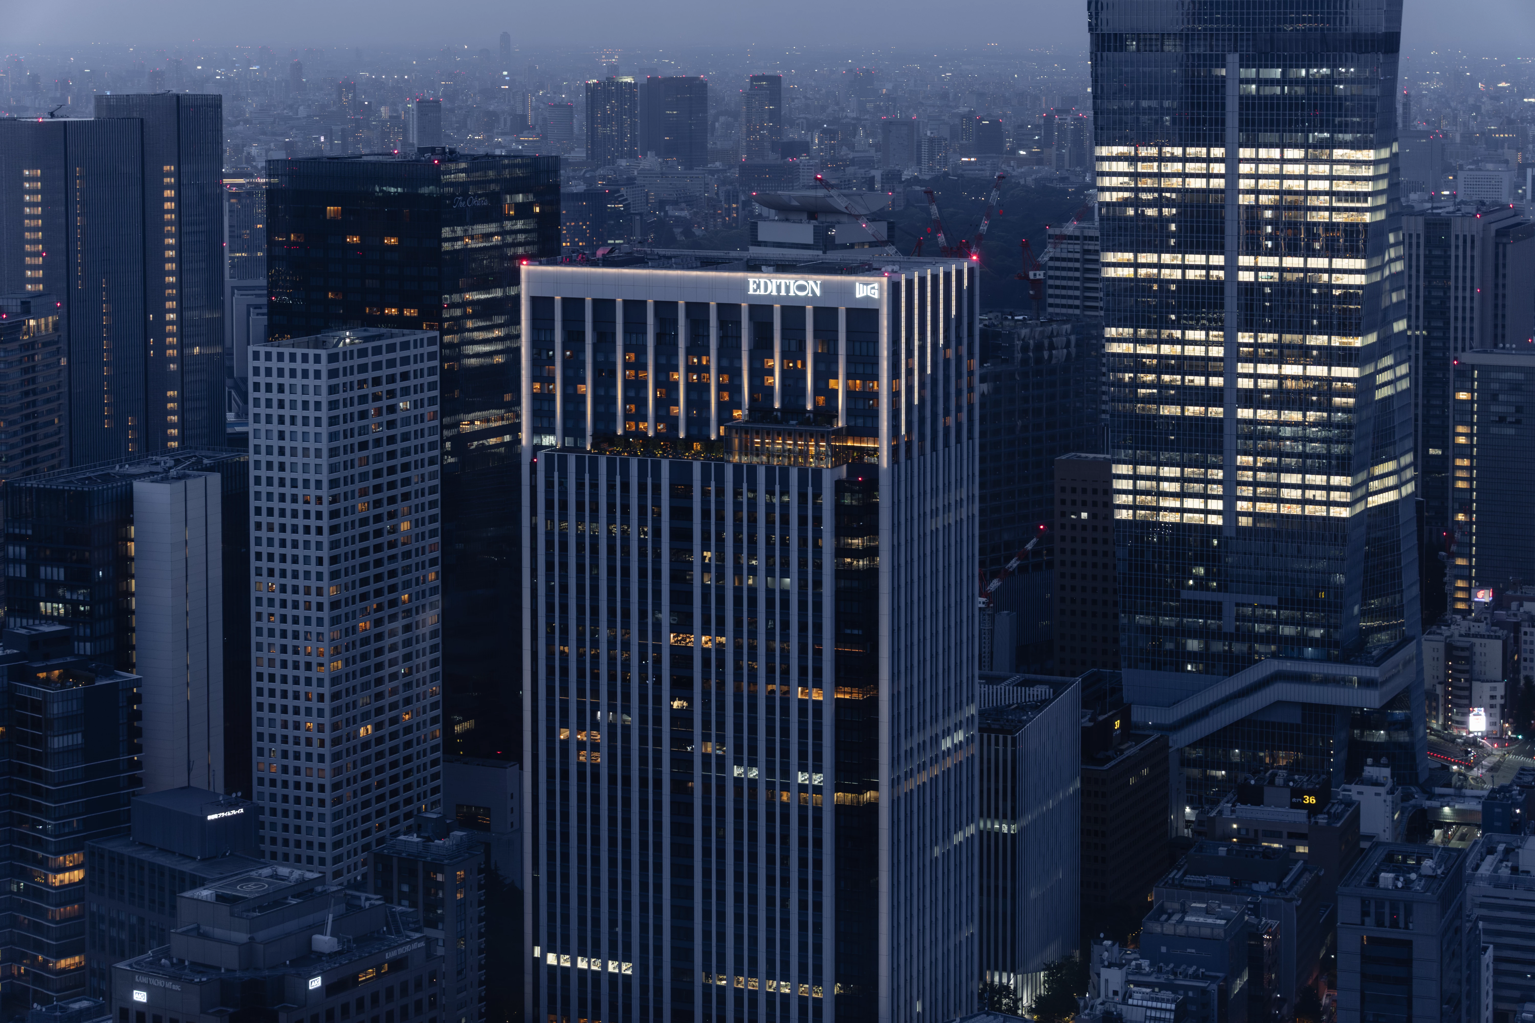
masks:
[[[143,132],[144,451],[224,446],[223,104],[173,92],[95,100],[97,120]]]

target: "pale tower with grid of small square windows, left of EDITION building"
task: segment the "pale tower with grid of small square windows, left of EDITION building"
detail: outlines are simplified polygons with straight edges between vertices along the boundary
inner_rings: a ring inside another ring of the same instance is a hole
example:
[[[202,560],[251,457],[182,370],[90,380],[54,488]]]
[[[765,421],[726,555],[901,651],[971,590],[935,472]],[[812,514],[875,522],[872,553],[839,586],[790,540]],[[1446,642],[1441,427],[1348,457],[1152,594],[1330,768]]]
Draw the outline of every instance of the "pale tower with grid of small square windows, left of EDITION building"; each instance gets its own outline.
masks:
[[[261,851],[332,880],[442,804],[439,351],[376,328],[250,348]]]

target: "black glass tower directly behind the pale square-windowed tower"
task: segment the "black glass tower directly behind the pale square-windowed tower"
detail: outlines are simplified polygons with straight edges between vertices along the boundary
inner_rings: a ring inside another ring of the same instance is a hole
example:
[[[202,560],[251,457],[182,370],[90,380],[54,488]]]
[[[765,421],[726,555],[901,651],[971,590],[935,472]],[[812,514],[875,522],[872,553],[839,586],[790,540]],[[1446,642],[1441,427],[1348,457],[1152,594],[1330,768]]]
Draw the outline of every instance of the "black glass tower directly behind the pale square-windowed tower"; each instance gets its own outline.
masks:
[[[269,339],[339,327],[442,334],[444,683],[457,739],[450,752],[511,756],[517,267],[560,250],[559,158],[447,150],[279,160],[267,176]]]

